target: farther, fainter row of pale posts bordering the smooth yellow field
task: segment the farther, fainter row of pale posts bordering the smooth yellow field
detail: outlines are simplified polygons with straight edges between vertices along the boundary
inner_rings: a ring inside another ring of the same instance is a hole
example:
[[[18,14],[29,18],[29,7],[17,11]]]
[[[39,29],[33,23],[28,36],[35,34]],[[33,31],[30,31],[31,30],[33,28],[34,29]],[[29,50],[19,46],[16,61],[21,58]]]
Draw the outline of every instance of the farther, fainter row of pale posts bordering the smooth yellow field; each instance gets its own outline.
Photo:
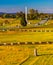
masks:
[[[16,30],[14,30],[14,29],[2,29],[2,30],[0,30],[0,32],[4,32],[4,31],[18,31],[18,32],[53,32],[53,28],[52,29],[45,29],[45,28],[43,28],[43,29],[41,29],[41,28],[35,28],[35,29],[16,29]]]

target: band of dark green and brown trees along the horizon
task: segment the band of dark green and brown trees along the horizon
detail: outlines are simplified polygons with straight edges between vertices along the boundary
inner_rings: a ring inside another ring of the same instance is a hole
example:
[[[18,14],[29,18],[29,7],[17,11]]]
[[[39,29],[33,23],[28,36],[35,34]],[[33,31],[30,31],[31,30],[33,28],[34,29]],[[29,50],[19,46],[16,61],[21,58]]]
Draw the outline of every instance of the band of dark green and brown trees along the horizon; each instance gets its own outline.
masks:
[[[19,18],[22,18],[24,14],[25,13],[22,11],[14,13],[14,14],[3,13],[3,14],[0,14],[0,18],[17,18],[17,19],[19,19]],[[28,14],[27,14],[28,20],[35,20],[35,19],[43,20],[45,18],[53,19],[53,14],[39,13],[38,10],[35,10],[35,9],[29,9]]]

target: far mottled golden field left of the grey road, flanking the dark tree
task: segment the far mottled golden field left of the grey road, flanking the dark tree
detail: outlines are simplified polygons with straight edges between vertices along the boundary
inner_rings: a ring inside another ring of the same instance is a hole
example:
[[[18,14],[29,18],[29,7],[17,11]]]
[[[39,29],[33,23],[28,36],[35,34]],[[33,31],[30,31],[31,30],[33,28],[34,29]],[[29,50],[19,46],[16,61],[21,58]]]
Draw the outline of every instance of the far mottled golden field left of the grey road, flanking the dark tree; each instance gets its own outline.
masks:
[[[40,20],[28,20],[28,22],[30,22],[31,24],[28,24],[25,28],[29,28],[29,27],[34,27],[35,23],[40,22]],[[16,26],[20,26],[21,28],[23,28],[20,24],[20,19],[3,19],[0,18],[0,25],[2,24],[2,26],[0,26],[0,28],[11,28],[11,27],[16,27]]]

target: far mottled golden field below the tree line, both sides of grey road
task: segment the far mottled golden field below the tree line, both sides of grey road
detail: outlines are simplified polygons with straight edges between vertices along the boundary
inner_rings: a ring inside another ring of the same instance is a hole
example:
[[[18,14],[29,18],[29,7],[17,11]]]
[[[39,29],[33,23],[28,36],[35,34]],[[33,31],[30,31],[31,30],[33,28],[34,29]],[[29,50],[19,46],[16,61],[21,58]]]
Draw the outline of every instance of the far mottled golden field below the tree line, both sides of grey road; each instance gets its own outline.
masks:
[[[34,28],[34,27],[44,27],[44,28],[53,28],[53,20],[48,20],[42,25],[35,26],[35,24],[40,23],[42,20],[28,20],[30,24],[23,27],[20,24],[20,19],[13,19],[13,18],[0,18],[0,28],[14,28],[14,27],[20,27],[20,28]]]

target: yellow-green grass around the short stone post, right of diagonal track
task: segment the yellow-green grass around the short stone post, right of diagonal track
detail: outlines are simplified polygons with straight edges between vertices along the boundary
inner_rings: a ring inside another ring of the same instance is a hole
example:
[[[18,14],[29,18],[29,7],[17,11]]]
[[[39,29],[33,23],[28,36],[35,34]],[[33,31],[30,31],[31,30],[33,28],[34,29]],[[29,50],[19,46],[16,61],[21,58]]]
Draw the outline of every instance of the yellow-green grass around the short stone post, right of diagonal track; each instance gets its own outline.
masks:
[[[53,45],[28,46],[28,48],[30,58],[22,65],[53,65]],[[38,56],[33,55],[34,48],[37,49]]]

